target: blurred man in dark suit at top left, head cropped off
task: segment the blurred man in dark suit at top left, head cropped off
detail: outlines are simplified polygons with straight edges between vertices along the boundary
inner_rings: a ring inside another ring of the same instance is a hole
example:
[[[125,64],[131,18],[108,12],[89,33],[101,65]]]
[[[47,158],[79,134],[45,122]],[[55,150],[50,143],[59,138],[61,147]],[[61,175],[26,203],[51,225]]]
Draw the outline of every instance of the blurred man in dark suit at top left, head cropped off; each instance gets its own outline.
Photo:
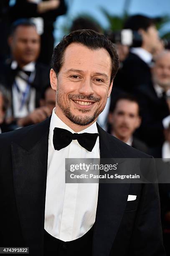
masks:
[[[10,19],[32,18],[37,23],[41,35],[41,52],[39,61],[50,65],[54,47],[54,22],[59,15],[66,13],[65,0],[15,0],[10,7]]]

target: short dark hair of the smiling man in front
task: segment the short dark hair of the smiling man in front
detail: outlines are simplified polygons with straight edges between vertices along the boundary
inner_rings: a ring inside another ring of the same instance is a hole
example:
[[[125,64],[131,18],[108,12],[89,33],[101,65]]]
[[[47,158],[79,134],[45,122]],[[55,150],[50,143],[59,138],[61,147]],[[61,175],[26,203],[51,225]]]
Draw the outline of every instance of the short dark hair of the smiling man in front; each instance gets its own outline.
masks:
[[[91,50],[106,49],[112,60],[111,81],[114,79],[119,68],[119,57],[116,48],[106,36],[91,29],[72,31],[69,35],[64,36],[60,43],[54,48],[51,67],[56,74],[58,74],[63,64],[64,51],[71,43],[82,44]]]

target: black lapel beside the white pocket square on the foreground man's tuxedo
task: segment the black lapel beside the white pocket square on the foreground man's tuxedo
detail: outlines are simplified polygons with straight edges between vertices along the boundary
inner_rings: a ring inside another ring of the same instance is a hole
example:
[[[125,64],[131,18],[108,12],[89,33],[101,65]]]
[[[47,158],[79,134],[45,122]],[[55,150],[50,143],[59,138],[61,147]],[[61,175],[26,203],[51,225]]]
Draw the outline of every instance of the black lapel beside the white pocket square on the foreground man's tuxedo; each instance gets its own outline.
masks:
[[[97,125],[99,131],[100,157],[123,158],[122,152],[109,136]],[[93,256],[109,256],[117,230],[119,228],[130,184],[99,183],[96,221],[93,237]]]

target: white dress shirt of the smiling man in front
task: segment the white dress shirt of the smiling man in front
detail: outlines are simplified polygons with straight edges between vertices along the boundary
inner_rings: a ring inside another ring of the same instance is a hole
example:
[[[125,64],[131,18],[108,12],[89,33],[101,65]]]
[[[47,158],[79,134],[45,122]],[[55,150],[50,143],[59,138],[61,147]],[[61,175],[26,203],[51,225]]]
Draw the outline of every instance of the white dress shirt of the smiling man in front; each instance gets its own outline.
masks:
[[[100,158],[99,136],[91,152],[73,140],[69,146],[55,150],[53,129],[75,133],[58,118],[55,108],[51,116],[48,138],[45,230],[62,241],[80,238],[92,227],[96,218],[99,183],[65,183],[65,158]],[[97,133],[96,122],[78,133]]]

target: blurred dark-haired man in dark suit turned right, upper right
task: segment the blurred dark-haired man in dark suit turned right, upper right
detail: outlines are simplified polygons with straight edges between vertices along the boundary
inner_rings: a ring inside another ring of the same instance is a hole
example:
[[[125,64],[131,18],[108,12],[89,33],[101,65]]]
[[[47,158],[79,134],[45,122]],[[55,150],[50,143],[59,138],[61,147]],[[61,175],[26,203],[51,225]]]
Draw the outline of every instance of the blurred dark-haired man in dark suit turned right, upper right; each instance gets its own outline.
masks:
[[[150,64],[152,53],[158,42],[158,32],[155,27],[155,20],[143,15],[133,15],[127,19],[124,29],[137,31],[142,36],[141,47],[131,47],[129,55],[122,62],[114,81],[114,86],[126,92],[133,92],[140,84],[152,84]]]

